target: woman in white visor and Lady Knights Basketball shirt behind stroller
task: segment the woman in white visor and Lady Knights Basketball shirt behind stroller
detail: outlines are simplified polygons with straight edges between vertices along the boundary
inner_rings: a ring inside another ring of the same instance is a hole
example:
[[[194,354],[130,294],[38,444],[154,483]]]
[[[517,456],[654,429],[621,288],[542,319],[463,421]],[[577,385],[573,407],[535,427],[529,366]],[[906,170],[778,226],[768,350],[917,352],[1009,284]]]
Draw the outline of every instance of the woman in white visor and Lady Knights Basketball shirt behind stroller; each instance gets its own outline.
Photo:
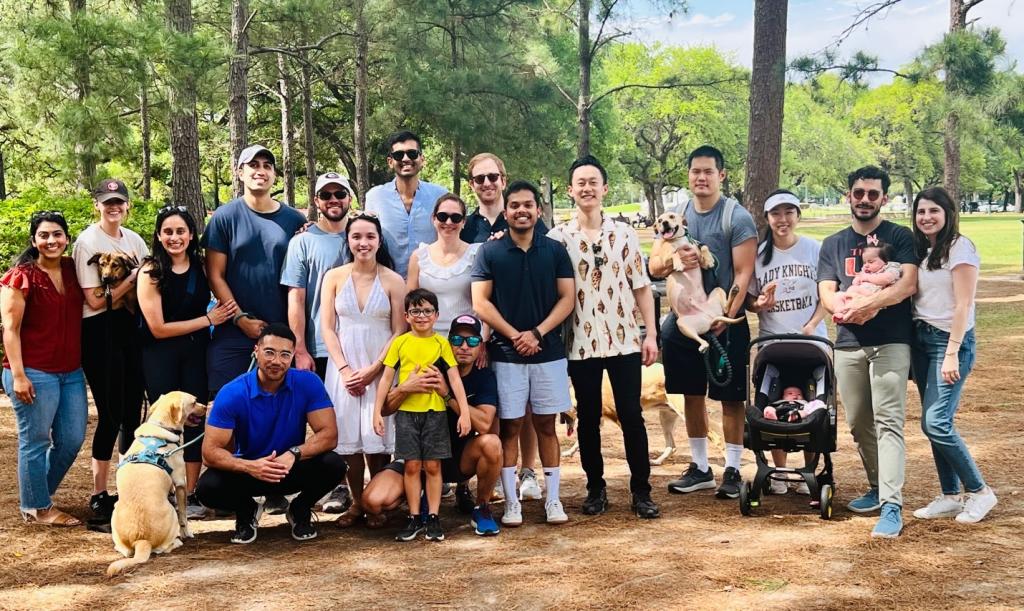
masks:
[[[792,191],[772,192],[764,209],[768,230],[758,245],[754,280],[746,296],[746,309],[758,315],[758,336],[799,333],[827,338],[816,281],[821,243],[797,234],[800,200]],[[784,450],[773,449],[771,455],[776,467],[785,467]],[[813,461],[814,454],[804,452],[804,460]],[[798,494],[810,493],[806,482],[797,484],[796,490]],[[772,494],[787,491],[785,482],[771,481]]]

